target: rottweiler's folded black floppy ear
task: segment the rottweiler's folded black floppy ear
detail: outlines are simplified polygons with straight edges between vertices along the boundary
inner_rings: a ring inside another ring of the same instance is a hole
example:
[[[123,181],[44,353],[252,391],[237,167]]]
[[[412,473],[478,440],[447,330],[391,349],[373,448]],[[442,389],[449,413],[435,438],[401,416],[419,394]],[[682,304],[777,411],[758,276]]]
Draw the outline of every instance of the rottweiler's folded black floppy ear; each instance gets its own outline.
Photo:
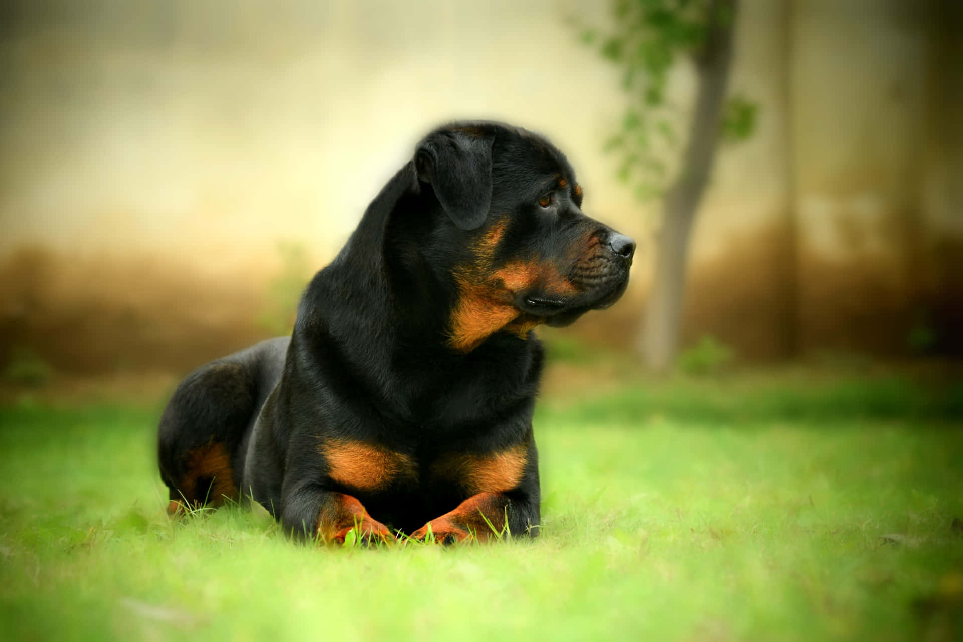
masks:
[[[418,180],[430,183],[455,225],[481,227],[491,205],[491,136],[435,132],[415,150]]]

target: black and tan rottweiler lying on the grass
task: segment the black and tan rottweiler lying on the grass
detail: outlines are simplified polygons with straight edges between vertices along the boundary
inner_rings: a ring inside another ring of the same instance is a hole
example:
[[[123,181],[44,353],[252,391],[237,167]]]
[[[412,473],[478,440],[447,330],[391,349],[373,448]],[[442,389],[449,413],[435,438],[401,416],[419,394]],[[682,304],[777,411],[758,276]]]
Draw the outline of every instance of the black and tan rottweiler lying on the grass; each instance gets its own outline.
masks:
[[[292,336],[189,374],[161,418],[168,510],[249,496],[299,537],[538,533],[539,323],[625,292],[636,244],[549,141],[421,141],[299,303]]]

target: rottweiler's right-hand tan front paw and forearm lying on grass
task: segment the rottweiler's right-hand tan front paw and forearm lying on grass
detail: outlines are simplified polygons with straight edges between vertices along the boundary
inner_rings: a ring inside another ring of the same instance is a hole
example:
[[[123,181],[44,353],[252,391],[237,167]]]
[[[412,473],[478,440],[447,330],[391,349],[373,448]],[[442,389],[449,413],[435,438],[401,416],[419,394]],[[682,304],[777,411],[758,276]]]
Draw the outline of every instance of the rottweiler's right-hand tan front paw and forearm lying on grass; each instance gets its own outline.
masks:
[[[429,526],[439,544],[464,542],[473,536],[484,542],[507,532],[534,536],[538,534],[538,501],[517,493],[512,497],[505,493],[479,493],[431,520],[411,537],[426,539]]]

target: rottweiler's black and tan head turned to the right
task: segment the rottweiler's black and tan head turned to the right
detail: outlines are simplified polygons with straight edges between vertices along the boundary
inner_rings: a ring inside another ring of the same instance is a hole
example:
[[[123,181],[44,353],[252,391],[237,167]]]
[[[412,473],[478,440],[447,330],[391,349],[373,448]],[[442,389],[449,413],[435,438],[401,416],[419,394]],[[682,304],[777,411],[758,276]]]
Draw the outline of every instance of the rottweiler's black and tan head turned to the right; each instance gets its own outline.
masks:
[[[421,251],[453,281],[455,349],[500,330],[566,325],[625,292],[635,242],[582,212],[575,172],[544,138],[454,123],[419,143],[414,166],[438,205]]]

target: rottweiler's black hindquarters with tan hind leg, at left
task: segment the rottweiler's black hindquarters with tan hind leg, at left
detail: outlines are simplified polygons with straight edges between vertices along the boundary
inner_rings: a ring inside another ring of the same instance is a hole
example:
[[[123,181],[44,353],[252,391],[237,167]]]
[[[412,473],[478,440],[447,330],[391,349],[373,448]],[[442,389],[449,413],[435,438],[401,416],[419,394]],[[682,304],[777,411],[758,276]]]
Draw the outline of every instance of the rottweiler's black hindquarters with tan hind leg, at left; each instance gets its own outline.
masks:
[[[201,366],[177,386],[157,441],[169,513],[239,497],[251,427],[280,380],[290,343],[263,341]]]

